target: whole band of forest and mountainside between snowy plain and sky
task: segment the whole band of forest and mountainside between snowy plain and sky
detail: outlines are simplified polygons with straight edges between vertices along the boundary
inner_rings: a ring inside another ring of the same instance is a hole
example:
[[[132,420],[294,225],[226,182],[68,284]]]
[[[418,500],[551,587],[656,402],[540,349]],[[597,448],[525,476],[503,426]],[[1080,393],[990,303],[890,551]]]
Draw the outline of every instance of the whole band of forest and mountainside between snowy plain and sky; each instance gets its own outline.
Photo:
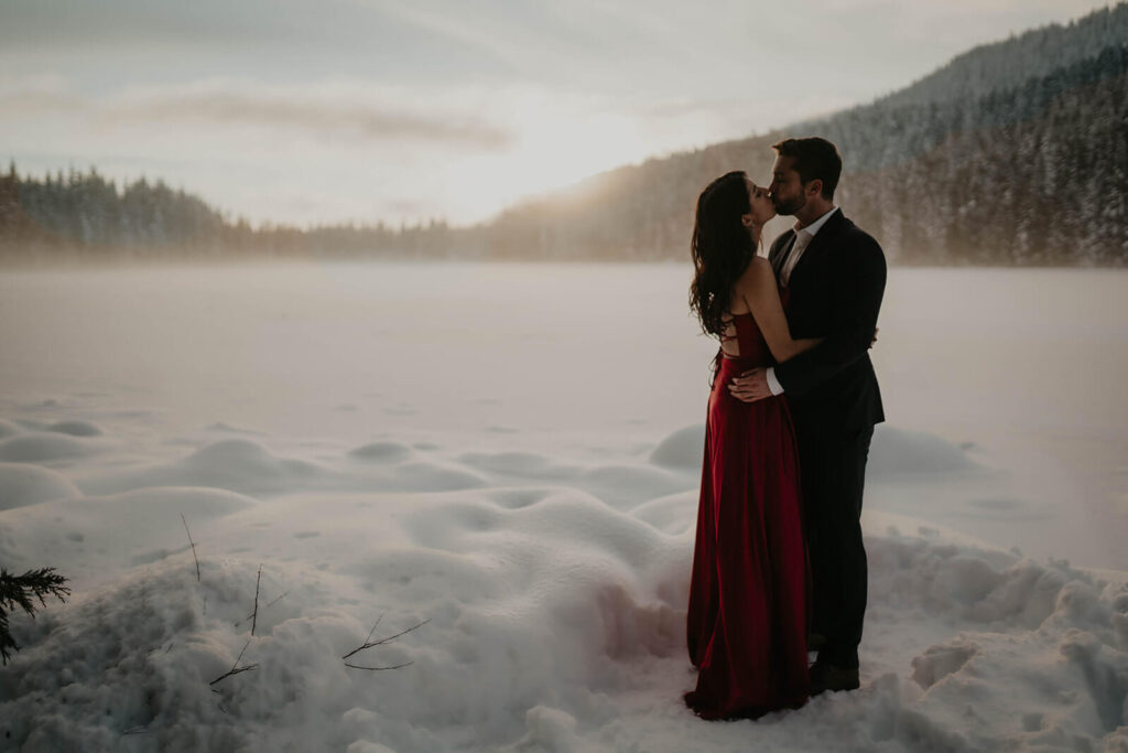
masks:
[[[250,227],[160,182],[0,177],[0,260],[687,259],[697,193],[772,145],[843,152],[837,203],[901,264],[1128,264],[1128,3],[977,47],[876,102],[622,167],[451,228]]]

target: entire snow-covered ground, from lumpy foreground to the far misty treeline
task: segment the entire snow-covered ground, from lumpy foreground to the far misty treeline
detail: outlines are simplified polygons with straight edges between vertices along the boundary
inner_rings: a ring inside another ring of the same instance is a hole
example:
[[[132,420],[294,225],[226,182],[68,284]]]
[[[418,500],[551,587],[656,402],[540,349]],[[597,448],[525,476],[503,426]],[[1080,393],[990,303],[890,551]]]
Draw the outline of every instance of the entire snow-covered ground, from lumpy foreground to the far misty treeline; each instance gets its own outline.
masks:
[[[688,279],[0,275],[0,563],[74,588],[12,619],[0,748],[1128,747],[1128,275],[893,270],[863,688],[721,724]]]

